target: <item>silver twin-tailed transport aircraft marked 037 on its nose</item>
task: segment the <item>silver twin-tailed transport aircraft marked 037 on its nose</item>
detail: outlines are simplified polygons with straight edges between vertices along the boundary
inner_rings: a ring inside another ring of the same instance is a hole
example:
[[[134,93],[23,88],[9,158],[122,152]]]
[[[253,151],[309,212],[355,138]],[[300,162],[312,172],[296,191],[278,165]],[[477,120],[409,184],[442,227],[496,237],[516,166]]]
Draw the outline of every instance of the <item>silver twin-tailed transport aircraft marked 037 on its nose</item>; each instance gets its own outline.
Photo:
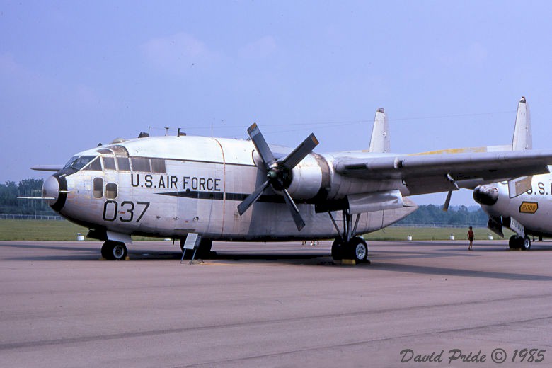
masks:
[[[295,149],[269,145],[256,124],[248,134],[142,133],[34,169],[56,171],[42,197],[105,241],[108,259],[124,259],[132,235],[173,238],[183,248],[188,234],[199,234],[204,255],[212,241],[335,238],[335,260],[363,262],[368,249],[359,235],[413,212],[407,195],[548,173],[552,163],[552,150],[392,154],[383,109],[364,151],[314,153],[314,134]]]

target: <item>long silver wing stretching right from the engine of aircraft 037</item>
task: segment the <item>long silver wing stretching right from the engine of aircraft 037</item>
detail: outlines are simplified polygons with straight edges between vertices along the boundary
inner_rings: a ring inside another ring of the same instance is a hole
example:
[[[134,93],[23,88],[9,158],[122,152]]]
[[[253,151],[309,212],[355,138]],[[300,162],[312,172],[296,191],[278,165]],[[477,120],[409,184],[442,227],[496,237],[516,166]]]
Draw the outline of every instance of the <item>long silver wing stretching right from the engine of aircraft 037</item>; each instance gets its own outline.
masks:
[[[403,180],[417,195],[548,173],[549,164],[552,150],[340,157],[334,168],[349,178]]]

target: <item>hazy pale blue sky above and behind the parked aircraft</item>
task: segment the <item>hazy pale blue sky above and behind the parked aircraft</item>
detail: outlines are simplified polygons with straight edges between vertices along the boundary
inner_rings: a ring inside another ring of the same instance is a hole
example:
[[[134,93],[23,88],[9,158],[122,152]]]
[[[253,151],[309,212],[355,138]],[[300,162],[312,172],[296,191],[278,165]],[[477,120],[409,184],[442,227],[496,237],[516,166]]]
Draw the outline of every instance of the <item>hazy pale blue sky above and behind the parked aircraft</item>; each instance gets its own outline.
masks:
[[[548,149],[551,19],[551,1],[0,0],[0,183],[164,127],[366,149],[377,108],[393,152],[510,144],[522,96]]]

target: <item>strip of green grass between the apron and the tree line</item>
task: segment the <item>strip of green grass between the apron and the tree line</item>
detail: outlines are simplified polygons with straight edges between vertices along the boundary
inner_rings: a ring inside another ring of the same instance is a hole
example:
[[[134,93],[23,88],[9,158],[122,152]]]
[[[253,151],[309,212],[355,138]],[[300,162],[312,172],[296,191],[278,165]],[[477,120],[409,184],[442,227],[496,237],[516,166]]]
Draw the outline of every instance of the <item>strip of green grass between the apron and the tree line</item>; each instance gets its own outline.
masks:
[[[406,240],[412,236],[413,240],[449,240],[451,234],[457,241],[467,241],[468,229],[447,227],[387,227],[386,229],[366,234],[366,240]],[[473,229],[476,240],[488,239],[488,229]],[[72,224],[68,221],[46,220],[0,220],[0,240],[36,240],[36,241],[74,241],[77,233],[86,235],[88,229]],[[505,231],[508,238],[513,234]],[[493,234],[494,239],[500,239]],[[134,241],[159,240],[159,238],[134,237]]]

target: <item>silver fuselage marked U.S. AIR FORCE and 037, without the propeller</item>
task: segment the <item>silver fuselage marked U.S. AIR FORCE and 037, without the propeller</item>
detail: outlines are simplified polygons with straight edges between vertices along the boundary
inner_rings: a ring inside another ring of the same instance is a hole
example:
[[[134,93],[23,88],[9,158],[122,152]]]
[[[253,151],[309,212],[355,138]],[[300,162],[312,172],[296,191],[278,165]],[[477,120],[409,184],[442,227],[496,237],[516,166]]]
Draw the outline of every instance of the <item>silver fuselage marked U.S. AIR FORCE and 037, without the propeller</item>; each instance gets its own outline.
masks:
[[[291,149],[271,146],[275,155]],[[292,240],[338,237],[328,212],[315,203],[347,195],[408,189],[401,180],[362,180],[336,173],[339,157],[364,157],[364,151],[309,154],[293,169],[290,195],[306,226],[297,230],[283,197],[263,195],[243,215],[238,204],[260,183],[255,146],[249,141],[211,137],[147,137],[108,144],[76,154],[76,163],[48,178],[43,188],[50,205],[77,224],[118,234],[183,238],[198,233],[213,240]],[[382,229],[415,210],[408,206],[366,212],[355,218],[355,234]],[[340,224],[340,211],[333,213]]]

